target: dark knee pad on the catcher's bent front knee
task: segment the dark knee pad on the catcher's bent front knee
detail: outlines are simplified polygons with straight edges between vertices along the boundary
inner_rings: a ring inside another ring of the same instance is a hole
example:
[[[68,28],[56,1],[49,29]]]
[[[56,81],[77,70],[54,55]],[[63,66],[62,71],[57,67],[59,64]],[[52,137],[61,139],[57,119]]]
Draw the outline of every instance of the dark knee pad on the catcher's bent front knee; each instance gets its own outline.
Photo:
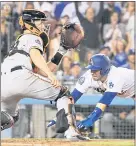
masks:
[[[66,96],[69,97],[70,96],[70,91],[67,87],[62,86],[59,95],[57,96],[57,98],[55,99],[55,101],[57,101],[59,98]]]

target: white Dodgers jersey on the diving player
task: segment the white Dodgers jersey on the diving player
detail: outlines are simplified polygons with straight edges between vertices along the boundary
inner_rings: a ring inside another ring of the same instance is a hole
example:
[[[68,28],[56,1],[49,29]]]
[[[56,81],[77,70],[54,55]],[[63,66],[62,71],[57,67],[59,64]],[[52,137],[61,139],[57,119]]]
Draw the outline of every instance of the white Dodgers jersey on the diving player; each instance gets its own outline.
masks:
[[[75,88],[81,93],[93,88],[101,93],[116,92],[119,97],[132,97],[134,95],[134,70],[112,66],[103,83],[93,80],[91,70],[88,70],[79,78]]]

